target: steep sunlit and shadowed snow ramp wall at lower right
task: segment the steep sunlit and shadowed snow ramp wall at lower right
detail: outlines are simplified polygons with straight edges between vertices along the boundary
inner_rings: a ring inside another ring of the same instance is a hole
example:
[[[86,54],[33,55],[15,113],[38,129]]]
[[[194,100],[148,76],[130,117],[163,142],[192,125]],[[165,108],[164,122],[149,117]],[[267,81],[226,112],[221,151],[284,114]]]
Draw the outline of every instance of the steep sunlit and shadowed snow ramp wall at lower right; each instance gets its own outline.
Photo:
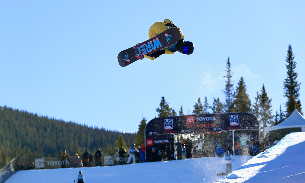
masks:
[[[286,135],[220,182],[305,182],[305,132]]]

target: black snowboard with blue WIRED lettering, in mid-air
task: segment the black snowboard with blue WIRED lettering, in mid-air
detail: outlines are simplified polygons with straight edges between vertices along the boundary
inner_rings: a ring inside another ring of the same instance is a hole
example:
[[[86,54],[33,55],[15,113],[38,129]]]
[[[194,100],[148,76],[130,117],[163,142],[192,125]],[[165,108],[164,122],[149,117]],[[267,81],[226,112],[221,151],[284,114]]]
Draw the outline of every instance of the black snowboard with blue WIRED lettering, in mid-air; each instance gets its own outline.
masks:
[[[174,45],[180,40],[180,38],[180,30],[178,28],[171,27],[155,37],[140,43],[139,45],[135,45],[121,51],[117,56],[117,60],[119,61],[120,66],[128,66],[138,59],[143,58],[144,55],[149,55],[170,45]]]

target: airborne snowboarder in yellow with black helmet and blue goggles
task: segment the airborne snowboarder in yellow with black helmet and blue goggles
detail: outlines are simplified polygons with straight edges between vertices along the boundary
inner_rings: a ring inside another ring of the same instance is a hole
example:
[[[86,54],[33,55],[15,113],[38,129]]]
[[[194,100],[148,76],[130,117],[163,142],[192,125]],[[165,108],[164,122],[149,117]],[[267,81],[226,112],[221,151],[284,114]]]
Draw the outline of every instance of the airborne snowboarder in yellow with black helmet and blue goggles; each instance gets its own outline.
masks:
[[[152,24],[152,26],[150,27],[149,32],[148,32],[149,39],[155,37],[156,35],[160,34],[164,30],[167,30],[171,27],[175,27],[180,30],[180,28],[177,27],[169,19],[165,19],[164,22],[156,22],[156,23]],[[194,52],[194,44],[190,41],[184,41],[184,34],[181,32],[181,30],[180,30],[180,33],[181,33],[181,38],[177,43],[175,43],[174,45],[168,46],[162,50],[153,52],[149,55],[145,55],[144,58],[149,58],[151,60],[154,60],[154,59],[158,58],[160,55],[163,55],[163,54],[170,55],[170,54],[174,54],[174,52],[180,52],[184,55],[192,54]]]

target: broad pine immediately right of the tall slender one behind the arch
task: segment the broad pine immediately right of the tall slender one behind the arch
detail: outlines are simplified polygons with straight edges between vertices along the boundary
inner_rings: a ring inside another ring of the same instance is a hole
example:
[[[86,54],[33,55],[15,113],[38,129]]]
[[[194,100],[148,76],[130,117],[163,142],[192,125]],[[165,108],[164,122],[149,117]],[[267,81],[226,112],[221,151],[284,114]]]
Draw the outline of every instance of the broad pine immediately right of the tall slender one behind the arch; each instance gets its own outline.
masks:
[[[251,100],[249,99],[249,95],[246,94],[246,84],[243,77],[239,80],[233,98],[233,112],[251,112]]]

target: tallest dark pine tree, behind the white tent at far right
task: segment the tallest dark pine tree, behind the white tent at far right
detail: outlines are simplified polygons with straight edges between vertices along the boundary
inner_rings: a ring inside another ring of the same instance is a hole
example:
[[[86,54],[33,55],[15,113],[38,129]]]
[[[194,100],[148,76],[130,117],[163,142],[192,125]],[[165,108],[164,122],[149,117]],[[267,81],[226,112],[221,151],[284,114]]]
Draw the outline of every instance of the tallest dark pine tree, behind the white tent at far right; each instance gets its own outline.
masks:
[[[286,117],[289,117],[294,109],[298,110],[302,115],[300,96],[300,84],[296,80],[298,74],[295,72],[296,62],[293,61],[294,56],[292,53],[291,45],[288,46],[287,56],[286,56],[286,68],[287,68],[287,78],[284,81],[284,97],[287,97],[286,102]]]

